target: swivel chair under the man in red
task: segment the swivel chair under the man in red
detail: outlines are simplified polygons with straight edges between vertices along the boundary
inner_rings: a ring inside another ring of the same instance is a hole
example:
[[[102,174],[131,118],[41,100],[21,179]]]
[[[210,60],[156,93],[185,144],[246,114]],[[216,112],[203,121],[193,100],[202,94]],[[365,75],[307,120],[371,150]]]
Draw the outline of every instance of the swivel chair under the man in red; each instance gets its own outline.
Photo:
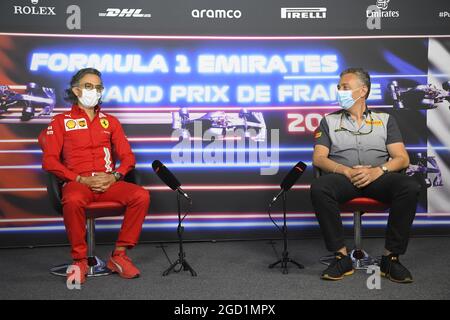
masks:
[[[125,181],[140,184],[138,172],[131,170],[124,178]],[[52,207],[62,215],[62,185],[61,181],[55,175],[48,173],[47,176],[47,193]],[[120,216],[125,212],[126,207],[118,202],[103,201],[91,202],[85,208],[86,213],[86,241],[88,245],[88,277],[98,277],[111,274],[111,270],[106,267],[106,263],[99,257],[95,256],[95,219],[101,217]],[[57,276],[66,276],[67,268],[70,263],[61,264],[50,269],[50,273]]]

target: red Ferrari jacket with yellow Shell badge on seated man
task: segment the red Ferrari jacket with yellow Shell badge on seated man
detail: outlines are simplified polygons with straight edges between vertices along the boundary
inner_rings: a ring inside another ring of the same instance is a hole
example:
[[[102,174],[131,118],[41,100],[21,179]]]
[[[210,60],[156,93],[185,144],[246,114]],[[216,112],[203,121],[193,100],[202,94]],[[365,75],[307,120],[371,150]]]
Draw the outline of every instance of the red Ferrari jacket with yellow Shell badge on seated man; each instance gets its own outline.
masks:
[[[126,175],[136,160],[117,118],[100,112],[90,121],[77,105],[54,116],[39,135],[43,150],[42,168],[65,181],[78,175],[117,171]],[[115,170],[115,160],[120,167]]]

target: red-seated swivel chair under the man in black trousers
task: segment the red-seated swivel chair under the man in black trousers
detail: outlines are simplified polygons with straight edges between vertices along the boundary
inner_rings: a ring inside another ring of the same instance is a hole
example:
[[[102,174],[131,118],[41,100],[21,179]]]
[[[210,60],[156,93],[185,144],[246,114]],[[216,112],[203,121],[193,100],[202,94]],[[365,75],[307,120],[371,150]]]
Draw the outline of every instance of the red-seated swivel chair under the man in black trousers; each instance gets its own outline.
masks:
[[[314,167],[314,176],[320,177],[321,170]],[[372,198],[354,198],[346,203],[340,204],[339,209],[341,212],[353,213],[353,229],[355,245],[350,252],[350,257],[353,261],[353,267],[355,269],[365,270],[371,265],[378,265],[378,259],[370,256],[362,247],[362,216],[365,213],[380,212],[389,209],[389,204],[377,201]],[[328,255],[320,258],[320,262],[329,265],[334,259],[333,255]]]

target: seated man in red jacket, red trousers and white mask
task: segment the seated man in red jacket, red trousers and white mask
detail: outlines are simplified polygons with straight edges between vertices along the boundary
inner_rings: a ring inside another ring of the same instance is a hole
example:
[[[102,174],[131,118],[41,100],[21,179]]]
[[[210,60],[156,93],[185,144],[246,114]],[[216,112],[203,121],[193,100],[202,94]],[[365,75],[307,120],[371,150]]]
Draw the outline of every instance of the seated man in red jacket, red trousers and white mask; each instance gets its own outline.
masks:
[[[53,117],[39,135],[42,168],[66,182],[62,188],[64,224],[73,264],[81,270],[81,283],[88,271],[84,207],[92,201],[115,201],[126,206],[108,268],[131,279],[139,276],[139,270],[125,250],[136,245],[150,203],[148,191],[122,180],[134,168],[135,158],[119,121],[100,111],[102,91],[98,70],[78,71],[67,90],[72,109]],[[115,158],[120,160],[117,169]]]

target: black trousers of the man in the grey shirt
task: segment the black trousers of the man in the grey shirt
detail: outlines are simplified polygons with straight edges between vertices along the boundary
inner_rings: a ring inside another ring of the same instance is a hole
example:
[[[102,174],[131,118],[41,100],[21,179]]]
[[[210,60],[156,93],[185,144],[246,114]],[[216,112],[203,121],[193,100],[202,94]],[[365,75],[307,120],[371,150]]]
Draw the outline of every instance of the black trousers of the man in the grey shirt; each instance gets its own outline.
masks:
[[[311,200],[327,249],[336,252],[345,247],[339,204],[357,197],[369,197],[390,204],[385,248],[395,254],[404,254],[420,188],[414,178],[394,172],[382,175],[362,189],[356,188],[341,174],[326,174],[315,179],[311,184]]]

